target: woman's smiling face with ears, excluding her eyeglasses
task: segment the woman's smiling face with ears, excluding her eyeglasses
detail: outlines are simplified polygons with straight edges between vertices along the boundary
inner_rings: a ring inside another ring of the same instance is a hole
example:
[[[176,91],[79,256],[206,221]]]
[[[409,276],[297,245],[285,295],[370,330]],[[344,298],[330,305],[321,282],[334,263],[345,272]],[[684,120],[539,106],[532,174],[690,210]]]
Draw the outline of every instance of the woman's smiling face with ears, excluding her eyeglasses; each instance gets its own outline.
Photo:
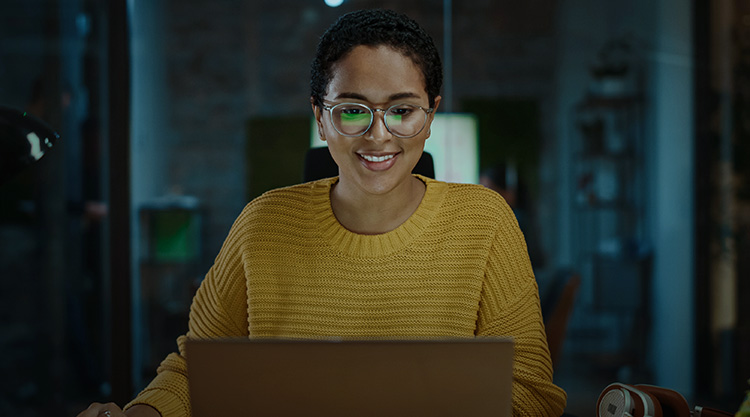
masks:
[[[429,100],[419,67],[400,52],[386,46],[357,46],[333,67],[324,104],[360,103],[387,109],[394,104],[414,104],[425,109]],[[435,98],[435,109],[440,97]],[[313,105],[318,130],[339,167],[339,185],[347,190],[382,195],[405,190],[411,171],[430,136],[433,113],[419,134],[411,138],[393,135],[385,126],[383,112],[375,112],[370,129],[362,136],[341,135],[331,115]]]

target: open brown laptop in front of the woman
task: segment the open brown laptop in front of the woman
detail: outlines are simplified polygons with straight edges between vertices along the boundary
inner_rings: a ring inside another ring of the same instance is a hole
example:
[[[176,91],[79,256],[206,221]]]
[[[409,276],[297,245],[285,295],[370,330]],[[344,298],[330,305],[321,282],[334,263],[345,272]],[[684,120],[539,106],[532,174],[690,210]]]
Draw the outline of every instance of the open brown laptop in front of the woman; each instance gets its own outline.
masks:
[[[195,417],[510,416],[513,342],[188,341]]]

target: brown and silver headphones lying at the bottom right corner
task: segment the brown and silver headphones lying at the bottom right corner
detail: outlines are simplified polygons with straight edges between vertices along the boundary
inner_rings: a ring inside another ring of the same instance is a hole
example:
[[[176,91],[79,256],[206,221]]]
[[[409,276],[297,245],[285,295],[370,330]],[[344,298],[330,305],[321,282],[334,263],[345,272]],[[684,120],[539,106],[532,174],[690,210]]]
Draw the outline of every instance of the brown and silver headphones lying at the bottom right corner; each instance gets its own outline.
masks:
[[[690,410],[679,392],[654,385],[609,384],[596,403],[596,417],[732,417],[714,408]]]

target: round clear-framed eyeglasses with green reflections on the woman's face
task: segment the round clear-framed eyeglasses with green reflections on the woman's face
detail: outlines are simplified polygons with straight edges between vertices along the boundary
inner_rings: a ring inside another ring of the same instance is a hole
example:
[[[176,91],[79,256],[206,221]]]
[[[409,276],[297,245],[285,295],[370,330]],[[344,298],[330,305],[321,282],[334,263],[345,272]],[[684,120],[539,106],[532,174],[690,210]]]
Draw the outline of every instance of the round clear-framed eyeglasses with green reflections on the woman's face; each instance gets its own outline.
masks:
[[[336,131],[348,137],[364,135],[372,126],[375,112],[383,112],[386,129],[399,138],[417,136],[427,124],[427,115],[435,110],[416,104],[394,104],[387,109],[373,109],[360,103],[340,103],[323,106],[323,109],[331,114]]]

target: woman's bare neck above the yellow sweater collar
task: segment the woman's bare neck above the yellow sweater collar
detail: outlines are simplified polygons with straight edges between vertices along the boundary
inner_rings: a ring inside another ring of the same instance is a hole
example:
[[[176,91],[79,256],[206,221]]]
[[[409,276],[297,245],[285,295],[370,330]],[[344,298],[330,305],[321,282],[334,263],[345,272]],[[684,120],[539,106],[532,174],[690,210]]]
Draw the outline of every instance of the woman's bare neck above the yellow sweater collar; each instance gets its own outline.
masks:
[[[372,195],[336,183],[331,189],[331,208],[346,229],[364,235],[390,232],[417,211],[426,185],[416,177],[393,191]]]

